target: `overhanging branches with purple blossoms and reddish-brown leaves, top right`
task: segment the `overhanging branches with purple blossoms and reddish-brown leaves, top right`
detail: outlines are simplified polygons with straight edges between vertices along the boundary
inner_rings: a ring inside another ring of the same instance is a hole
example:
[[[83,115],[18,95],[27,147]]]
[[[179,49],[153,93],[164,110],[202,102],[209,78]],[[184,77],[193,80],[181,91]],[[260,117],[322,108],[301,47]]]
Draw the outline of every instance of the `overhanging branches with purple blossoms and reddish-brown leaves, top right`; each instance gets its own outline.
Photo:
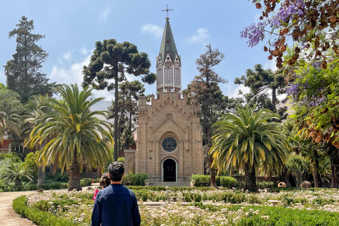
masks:
[[[264,7],[260,0],[251,1],[261,10],[262,21],[244,28],[241,37],[248,38],[249,47],[253,47],[265,39],[266,33],[270,34],[263,50],[270,53],[268,59],[277,57],[278,69],[283,66],[283,55],[291,39],[296,45],[292,46],[293,53],[288,57],[285,55],[284,60],[291,66],[302,56],[319,61],[321,67],[326,69],[328,59],[339,54],[338,1],[272,0],[263,1]],[[301,49],[308,49],[309,52],[299,54]]]

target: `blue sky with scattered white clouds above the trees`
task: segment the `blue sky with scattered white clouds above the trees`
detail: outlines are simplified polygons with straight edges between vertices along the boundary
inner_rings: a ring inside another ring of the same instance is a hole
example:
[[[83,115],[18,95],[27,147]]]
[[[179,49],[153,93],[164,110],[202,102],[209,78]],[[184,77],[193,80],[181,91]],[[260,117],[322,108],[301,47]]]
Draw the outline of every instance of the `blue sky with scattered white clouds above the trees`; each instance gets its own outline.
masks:
[[[8,32],[16,28],[21,16],[34,21],[33,33],[45,35],[37,42],[49,54],[42,71],[50,81],[81,85],[83,65],[88,65],[95,42],[114,38],[117,42],[136,44],[139,52],[146,52],[155,73],[155,58],[159,54],[165,27],[166,5],[169,11],[178,54],[182,57],[182,88],[198,75],[195,61],[206,51],[206,44],[218,48],[225,58],[215,72],[228,82],[220,84],[224,95],[238,97],[238,90],[248,92],[243,85],[234,85],[234,78],[262,64],[275,70],[275,62],[267,59],[263,42],[250,48],[240,32],[260,16],[247,0],[172,0],[172,1],[89,1],[89,0],[11,0],[0,1],[0,83],[6,84],[4,67],[15,53],[15,38]],[[130,81],[136,79],[128,77]],[[146,94],[155,94],[155,84],[146,85]],[[93,92],[96,97],[114,98],[105,90]]]

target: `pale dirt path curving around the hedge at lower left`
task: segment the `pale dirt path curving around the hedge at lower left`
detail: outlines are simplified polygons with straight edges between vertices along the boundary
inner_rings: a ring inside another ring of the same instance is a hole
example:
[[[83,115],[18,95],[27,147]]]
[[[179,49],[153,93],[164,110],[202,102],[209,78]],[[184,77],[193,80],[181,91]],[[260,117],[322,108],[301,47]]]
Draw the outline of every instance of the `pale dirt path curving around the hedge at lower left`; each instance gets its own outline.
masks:
[[[92,187],[99,186],[99,183],[92,184]],[[83,191],[87,187],[83,187]],[[54,191],[67,191],[67,189],[60,189]],[[32,226],[33,222],[26,218],[21,218],[20,215],[14,212],[12,204],[13,199],[18,196],[29,195],[34,191],[13,191],[13,192],[0,192],[0,225],[6,226]]]

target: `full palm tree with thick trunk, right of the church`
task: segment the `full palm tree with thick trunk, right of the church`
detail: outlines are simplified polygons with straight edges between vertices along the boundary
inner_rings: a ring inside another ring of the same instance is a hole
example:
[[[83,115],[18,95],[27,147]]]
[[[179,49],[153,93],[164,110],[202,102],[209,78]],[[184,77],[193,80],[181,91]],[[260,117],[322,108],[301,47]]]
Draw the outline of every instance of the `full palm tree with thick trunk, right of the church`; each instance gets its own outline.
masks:
[[[246,106],[236,114],[225,114],[214,126],[215,136],[210,154],[218,169],[243,169],[245,189],[257,190],[256,171],[271,172],[285,163],[289,149],[286,136],[278,122],[278,114],[268,109],[254,112]]]

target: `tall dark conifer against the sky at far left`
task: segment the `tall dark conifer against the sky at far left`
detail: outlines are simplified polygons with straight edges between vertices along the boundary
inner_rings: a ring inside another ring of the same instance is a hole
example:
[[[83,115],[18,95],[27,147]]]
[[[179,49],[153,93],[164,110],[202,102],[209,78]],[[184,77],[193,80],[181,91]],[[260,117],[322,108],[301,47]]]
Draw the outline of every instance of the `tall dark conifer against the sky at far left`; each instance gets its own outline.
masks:
[[[52,96],[56,83],[48,83],[49,79],[41,71],[48,54],[37,42],[44,35],[32,34],[33,20],[22,16],[19,21],[17,28],[8,33],[9,38],[16,37],[16,53],[4,68],[8,89],[18,93],[21,102],[25,103],[32,95]]]

